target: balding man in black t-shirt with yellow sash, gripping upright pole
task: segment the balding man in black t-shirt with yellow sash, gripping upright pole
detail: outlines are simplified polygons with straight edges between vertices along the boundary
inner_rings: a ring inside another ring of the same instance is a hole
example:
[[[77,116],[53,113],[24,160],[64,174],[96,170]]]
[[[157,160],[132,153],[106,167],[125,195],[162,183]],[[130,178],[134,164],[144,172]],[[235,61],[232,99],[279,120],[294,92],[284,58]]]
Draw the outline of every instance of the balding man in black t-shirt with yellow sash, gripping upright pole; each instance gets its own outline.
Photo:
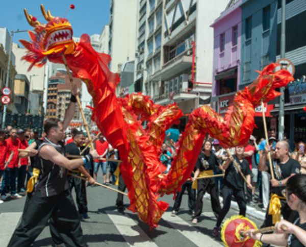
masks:
[[[266,145],[265,154],[260,157],[258,169],[260,171],[270,171],[268,155],[272,147]],[[293,222],[296,212],[293,212],[288,206],[285,198],[283,197],[282,190],[285,189],[287,180],[298,174],[300,171],[300,164],[289,157],[289,144],[286,141],[278,141],[275,146],[275,152],[272,152],[272,166],[274,179],[270,180],[270,192],[272,194],[277,194],[281,200],[282,208],[281,212],[284,219]],[[270,204],[270,203],[269,203]],[[269,205],[267,207],[265,221],[262,227],[272,226],[272,216],[269,214]]]

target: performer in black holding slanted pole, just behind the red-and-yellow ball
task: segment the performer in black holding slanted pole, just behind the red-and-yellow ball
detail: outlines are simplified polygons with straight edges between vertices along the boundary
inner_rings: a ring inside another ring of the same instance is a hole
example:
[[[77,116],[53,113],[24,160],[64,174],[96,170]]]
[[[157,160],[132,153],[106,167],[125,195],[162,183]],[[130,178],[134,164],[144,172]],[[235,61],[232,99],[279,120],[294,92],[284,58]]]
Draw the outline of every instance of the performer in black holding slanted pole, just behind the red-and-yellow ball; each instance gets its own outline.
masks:
[[[248,181],[248,187],[251,186],[251,170],[248,162],[242,158],[242,154],[244,152],[243,146],[237,146],[235,149],[236,155],[230,157],[225,164],[223,165],[223,169],[225,169],[225,176],[223,179],[223,187],[222,187],[222,196],[223,196],[223,208],[217,218],[216,226],[213,230],[213,236],[218,236],[220,234],[220,226],[222,220],[227,214],[228,210],[231,207],[232,195],[234,195],[237,204],[239,206],[239,214],[245,216],[246,212],[246,200],[244,195],[244,180],[242,176],[239,174],[238,169],[233,164],[233,160],[235,159],[240,166],[240,169],[243,175],[246,177]]]

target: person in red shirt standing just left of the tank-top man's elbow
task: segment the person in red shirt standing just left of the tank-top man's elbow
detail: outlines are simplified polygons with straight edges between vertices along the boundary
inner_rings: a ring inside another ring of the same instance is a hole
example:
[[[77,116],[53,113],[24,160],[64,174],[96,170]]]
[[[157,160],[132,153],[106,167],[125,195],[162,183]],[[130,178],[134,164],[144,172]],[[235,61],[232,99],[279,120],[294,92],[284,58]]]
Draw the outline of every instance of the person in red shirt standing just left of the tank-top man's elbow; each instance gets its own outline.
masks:
[[[25,139],[25,131],[22,129],[19,129],[17,131],[17,135],[19,139],[19,149],[26,149],[29,146],[29,144],[28,144],[27,139]],[[17,193],[25,192],[24,180],[25,180],[25,174],[27,173],[28,165],[29,165],[29,157],[19,158]]]

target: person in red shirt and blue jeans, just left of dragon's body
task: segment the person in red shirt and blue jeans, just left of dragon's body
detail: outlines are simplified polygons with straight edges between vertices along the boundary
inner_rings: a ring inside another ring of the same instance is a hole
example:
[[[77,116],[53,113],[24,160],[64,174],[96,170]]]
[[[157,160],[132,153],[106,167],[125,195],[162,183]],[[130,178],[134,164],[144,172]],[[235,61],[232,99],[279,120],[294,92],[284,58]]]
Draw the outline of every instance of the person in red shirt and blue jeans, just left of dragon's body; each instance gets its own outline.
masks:
[[[108,141],[104,138],[103,135],[99,136],[99,139],[95,142],[95,147],[96,147],[96,151],[98,153],[98,155],[101,158],[106,158],[106,154],[108,152],[108,147],[109,147],[109,143]],[[99,166],[101,166],[102,168],[102,172],[103,172],[103,183],[104,184],[109,184],[110,181],[107,180],[107,161],[103,161],[103,160],[94,160],[94,169],[93,169],[93,178],[96,181],[97,180],[97,176],[98,176],[98,170],[99,170]]]

